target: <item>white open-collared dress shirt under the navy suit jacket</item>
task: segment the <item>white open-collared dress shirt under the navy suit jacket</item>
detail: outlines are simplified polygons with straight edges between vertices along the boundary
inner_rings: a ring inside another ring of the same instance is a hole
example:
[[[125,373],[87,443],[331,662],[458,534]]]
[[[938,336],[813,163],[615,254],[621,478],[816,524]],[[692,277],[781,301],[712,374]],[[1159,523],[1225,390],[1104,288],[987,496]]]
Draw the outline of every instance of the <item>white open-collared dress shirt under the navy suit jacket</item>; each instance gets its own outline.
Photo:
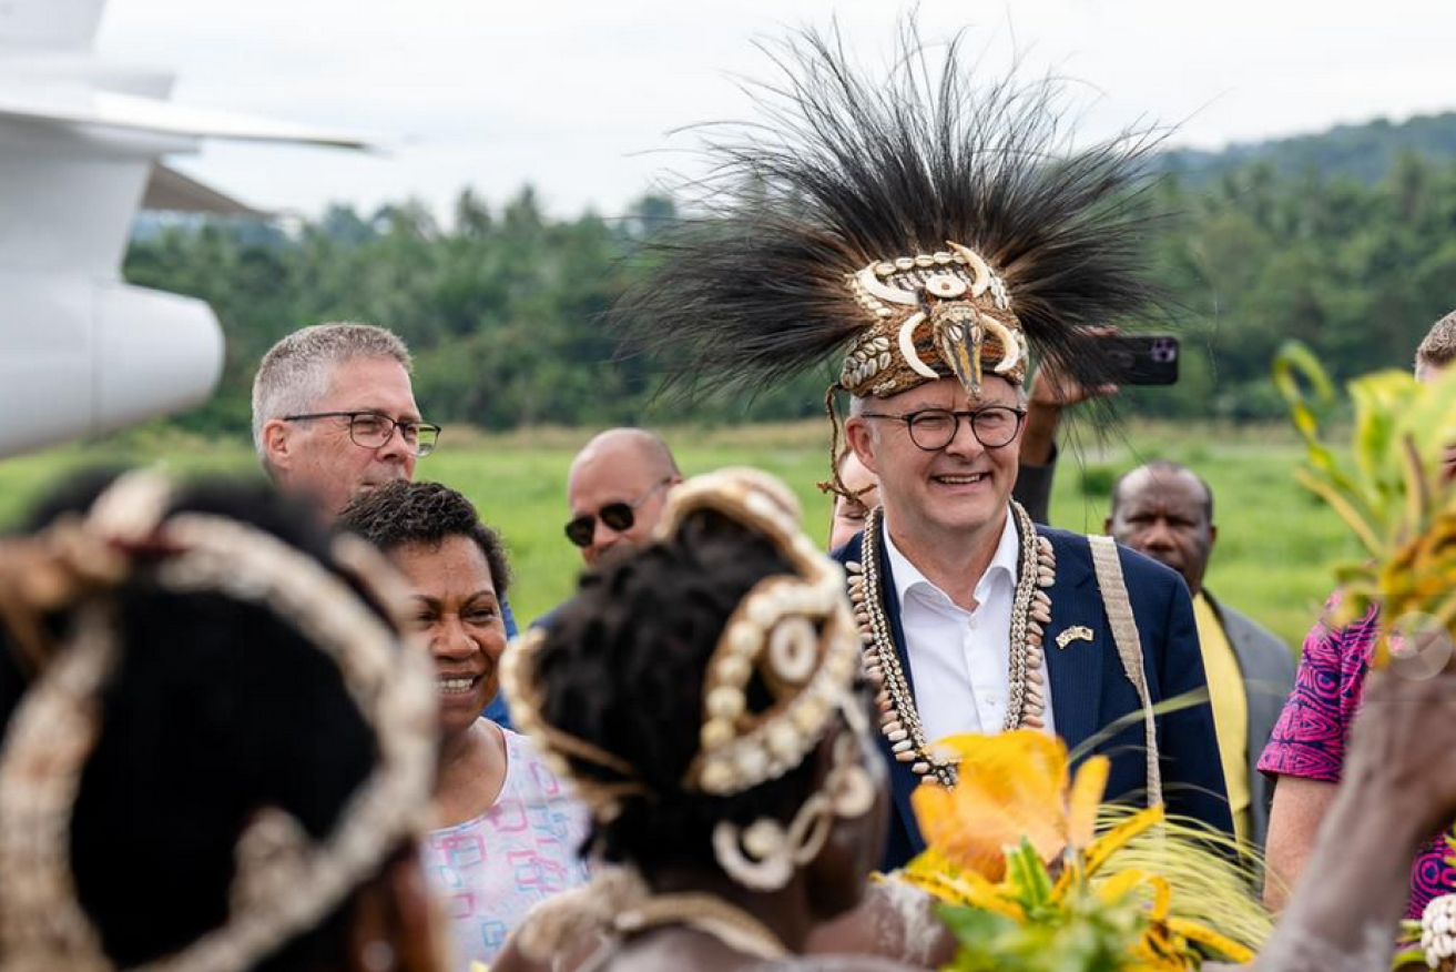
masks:
[[[1010,609],[1016,597],[1016,520],[1006,514],[990,565],[976,584],[976,611],[965,611],[900,552],[885,529],[885,551],[900,602],[910,681],[926,739],[957,733],[994,734],[1010,701]],[[1047,673],[1045,665],[1042,675]],[[1044,686],[1051,723],[1051,685]]]

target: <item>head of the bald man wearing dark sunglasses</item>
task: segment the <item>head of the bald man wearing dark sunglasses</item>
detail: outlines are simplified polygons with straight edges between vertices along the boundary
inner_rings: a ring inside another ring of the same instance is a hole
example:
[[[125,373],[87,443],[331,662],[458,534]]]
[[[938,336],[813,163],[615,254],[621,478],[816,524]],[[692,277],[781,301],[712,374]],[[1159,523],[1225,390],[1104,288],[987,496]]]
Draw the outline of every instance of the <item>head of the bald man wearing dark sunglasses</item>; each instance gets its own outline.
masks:
[[[609,428],[577,453],[566,479],[566,539],[588,565],[646,542],[667,491],[683,481],[661,436]]]

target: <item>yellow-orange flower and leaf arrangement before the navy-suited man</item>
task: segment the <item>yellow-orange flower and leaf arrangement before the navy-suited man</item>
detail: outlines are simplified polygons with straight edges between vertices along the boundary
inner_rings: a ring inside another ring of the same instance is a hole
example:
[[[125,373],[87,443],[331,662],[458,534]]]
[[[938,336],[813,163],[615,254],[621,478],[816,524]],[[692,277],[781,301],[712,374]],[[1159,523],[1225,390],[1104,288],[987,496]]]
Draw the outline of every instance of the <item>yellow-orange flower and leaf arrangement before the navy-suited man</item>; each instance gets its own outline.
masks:
[[[942,904],[955,972],[1181,972],[1249,962],[1271,922],[1232,842],[1162,807],[1102,806],[1108,759],[1070,777],[1066,745],[1034,730],[942,740],[951,790],[920,785],[927,850],[900,873]],[[1217,922],[1220,930],[1214,930]]]

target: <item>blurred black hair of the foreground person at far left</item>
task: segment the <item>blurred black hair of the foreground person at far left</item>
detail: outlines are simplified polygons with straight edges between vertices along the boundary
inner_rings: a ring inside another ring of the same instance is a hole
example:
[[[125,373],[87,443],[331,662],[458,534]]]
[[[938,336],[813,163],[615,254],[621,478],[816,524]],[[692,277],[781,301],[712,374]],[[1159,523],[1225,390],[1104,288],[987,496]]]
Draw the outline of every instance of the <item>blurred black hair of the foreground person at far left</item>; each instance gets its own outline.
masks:
[[[84,512],[109,479],[89,475],[63,488],[31,517],[31,529]],[[387,618],[333,561],[312,509],[261,485],[213,482],[182,490],[169,516],[179,512],[224,516],[282,539]],[[74,804],[71,871],[106,956],[130,968],[227,920],[237,842],[259,807],[285,810],[322,839],[379,752],[338,666],[277,614],[218,592],[166,590],[146,563],[109,600],[121,654],[100,694],[100,737]],[[61,635],[71,618],[47,621]],[[28,688],[10,648],[0,624],[0,726]],[[146,893],[137,893],[138,882]],[[255,969],[347,965],[352,914],[345,899]]]

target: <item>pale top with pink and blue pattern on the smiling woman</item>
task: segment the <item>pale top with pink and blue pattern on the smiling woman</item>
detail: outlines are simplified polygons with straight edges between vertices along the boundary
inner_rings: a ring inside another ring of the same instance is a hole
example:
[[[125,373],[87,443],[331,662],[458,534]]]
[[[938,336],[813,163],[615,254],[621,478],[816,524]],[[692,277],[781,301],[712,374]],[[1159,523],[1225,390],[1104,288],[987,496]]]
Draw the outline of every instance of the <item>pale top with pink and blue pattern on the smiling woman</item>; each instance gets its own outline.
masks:
[[[431,831],[421,851],[450,920],[456,972],[489,965],[537,902],[587,882],[578,850],[590,818],[526,737],[505,733],[505,783],[483,815]]]

